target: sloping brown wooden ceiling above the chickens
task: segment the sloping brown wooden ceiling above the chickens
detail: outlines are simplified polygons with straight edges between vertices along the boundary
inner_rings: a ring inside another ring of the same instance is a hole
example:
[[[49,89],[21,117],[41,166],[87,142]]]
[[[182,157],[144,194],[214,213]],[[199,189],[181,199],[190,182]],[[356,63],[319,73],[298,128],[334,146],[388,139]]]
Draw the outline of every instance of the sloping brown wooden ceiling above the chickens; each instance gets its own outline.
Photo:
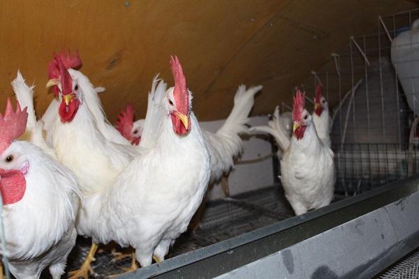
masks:
[[[69,0],[5,1],[0,9],[0,106],[17,69],[36,87],[41,115],[52,52],[79,50],[82,72],[101,94],[110,121],[126,102],[144,117],[156,73],[172,84],[179,56],[193,110],[223,119],[239,84],[263,84],[255,114],[267,114],[321,68],[348,37],[376,28],[378,15],[417,8],[406,0]]]

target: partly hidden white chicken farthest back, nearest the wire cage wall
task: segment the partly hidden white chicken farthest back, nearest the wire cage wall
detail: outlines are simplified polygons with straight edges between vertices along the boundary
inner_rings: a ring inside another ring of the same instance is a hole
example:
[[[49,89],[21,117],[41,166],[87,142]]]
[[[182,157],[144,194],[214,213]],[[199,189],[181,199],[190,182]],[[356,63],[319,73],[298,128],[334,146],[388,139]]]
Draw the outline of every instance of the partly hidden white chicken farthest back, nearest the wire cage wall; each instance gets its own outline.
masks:
[[[317,135],[325,146],[330,147],[330,129],[332,128],[332,118],[329,113],[329,105],[321,93],[322,86],[316,85],[316,98],[314,98],[314,112],[312,114]]]

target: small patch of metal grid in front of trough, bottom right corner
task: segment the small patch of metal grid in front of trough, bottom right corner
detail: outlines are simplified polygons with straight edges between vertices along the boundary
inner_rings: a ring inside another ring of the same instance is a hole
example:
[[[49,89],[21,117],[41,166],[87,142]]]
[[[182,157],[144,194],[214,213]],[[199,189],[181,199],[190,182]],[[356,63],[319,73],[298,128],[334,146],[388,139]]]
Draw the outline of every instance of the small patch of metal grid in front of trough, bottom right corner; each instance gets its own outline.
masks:
[[[419,250],[411,252],[376,279],[417,279],[419,278]]]

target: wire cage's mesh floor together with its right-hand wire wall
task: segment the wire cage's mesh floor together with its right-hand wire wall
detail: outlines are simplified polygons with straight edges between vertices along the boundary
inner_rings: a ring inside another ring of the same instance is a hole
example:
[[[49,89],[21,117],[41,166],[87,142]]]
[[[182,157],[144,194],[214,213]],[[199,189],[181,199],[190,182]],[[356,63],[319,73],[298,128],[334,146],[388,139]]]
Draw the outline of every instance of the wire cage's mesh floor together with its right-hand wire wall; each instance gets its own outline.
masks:
[[[321,82],[332,107],[331,137],[337,167],[335,201],[419,172],[415,119],[419,103],[414,90],[405,92],[402,80],[413,89],[419,88],[419,84],[416,85],[414,75],[401,79],[398,65],[402,67],[402,62],[392,61],[392,42],[403,31],[409,31],[418,18],[419,9],[379,17],[376,33],[349,38],[344,51],[332,54],[318,73],[312,72],[314,82],[310,79],[302,84],[307,92],[314,92],[316,83]],[[414,46],[413,41],[409,45]],[[282,112],[291,107],[281,103]],[[180,236],[166,258],[291,216],[291,206],[277,186],[209,202],[200,227]],[[89,245],[89,240],[78,239],[68,259],[68,271],[80,266]],[[92,264],[99,278],[122,273],[131,264],[129,258],[115,262],[112,248],[115,246],[99,250]],[[45,272],[43,278],[47,276]]]

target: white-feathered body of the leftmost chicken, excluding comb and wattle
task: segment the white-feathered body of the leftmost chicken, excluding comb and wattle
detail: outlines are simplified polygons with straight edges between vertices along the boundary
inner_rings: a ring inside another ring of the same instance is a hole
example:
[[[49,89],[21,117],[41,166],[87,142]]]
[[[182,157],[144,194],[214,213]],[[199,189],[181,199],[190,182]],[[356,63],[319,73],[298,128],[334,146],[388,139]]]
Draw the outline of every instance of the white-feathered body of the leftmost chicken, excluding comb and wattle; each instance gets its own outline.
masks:
[[[14,160],[6,163],[4,157],[10,154]],[[29,165],[24,196],[3,206],[10,271],[16,278],[39,278],[50,266],[52,278],[60,278],[77,236],[77,180],[69,169],[29,142],[10,144],[1,154],[0,168],[20,168],[22,162]]]

